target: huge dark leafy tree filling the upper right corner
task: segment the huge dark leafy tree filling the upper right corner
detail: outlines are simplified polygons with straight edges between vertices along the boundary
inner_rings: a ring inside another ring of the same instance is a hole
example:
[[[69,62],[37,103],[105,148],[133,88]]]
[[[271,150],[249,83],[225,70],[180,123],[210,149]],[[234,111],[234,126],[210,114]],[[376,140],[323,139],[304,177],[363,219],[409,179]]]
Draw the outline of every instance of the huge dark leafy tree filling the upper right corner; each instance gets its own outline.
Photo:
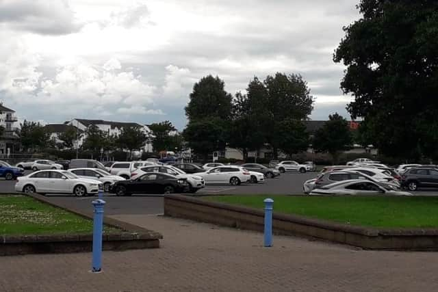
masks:
[[[435,155],[438,143],[438,2],[361,0],[333,59],[347,66],[341,88],[355,100],[379,152]]]

